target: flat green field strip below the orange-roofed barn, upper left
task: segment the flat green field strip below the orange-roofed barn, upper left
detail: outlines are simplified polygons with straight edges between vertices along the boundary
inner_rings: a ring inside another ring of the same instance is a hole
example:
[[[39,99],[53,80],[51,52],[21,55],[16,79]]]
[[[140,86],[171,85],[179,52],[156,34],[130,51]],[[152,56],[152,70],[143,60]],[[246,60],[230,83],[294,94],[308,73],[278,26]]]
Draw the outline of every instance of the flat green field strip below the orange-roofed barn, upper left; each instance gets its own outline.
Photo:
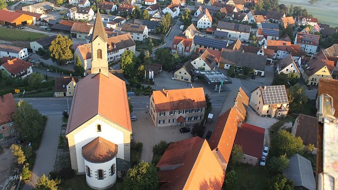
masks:
[[[0,39],[10,41],[35,41],[37,39],[46,38],[47,35],[34,33],[19,29],[11,29],[0,27]]]

